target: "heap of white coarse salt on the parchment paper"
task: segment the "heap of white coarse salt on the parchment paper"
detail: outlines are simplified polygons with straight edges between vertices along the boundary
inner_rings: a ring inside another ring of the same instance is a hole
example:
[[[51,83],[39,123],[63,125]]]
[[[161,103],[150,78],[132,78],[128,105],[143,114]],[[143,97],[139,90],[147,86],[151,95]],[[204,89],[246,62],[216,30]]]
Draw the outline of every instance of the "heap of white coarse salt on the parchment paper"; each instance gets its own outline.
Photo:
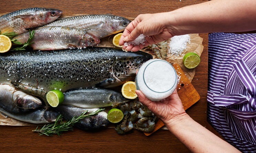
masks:
[[[190,44],[190,35],[174,36],[169,43],[168,53],[171,55],[179,56]]]

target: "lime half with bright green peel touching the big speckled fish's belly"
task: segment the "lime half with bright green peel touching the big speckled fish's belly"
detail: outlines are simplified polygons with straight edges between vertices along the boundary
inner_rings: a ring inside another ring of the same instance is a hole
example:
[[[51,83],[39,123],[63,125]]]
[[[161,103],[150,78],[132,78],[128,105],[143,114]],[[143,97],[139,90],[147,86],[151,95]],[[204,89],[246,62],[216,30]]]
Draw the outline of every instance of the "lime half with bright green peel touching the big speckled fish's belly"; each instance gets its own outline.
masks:
[[[49,105],[57,107],[64,101],[64,94],[60,90],[51,90],[46,94],[46,99]]]

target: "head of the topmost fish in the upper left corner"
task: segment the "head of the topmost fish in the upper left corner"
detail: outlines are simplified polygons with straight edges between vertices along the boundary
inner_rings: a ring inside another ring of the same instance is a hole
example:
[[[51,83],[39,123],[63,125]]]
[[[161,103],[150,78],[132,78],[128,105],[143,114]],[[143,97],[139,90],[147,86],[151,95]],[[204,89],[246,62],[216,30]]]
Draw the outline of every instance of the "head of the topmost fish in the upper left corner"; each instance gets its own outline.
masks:
[[[36,11],[34,22],[43,26],[55,21],[61,14],[62,11],[58,9],[41,9]]]

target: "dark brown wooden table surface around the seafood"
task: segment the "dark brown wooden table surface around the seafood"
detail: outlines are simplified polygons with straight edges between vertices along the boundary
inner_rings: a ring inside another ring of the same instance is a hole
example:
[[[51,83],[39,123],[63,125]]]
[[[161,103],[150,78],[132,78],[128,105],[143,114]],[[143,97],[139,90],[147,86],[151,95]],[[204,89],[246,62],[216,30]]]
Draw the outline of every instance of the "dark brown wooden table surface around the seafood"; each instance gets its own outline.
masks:
[[[2,0],[0,13],[12,12],[30,7],[56,8],[63,15],[111,13],[124,17],[136,17],[144,13],[172,11],[187,5],[207,0]],[[206,126],[206,93],[208,34],[200,34],[204,50],[201,64],[196,67],[192,84],[201,99],[186,112],[202,126]],[[113,128],[99,132],[87,132],[75,128],[61,137],[39,136],[32,132],[35,126],[0,126],[0,152],[190,152],[168,130],[158,130],[150,136],[134,130],[128,135],[118,135]]]

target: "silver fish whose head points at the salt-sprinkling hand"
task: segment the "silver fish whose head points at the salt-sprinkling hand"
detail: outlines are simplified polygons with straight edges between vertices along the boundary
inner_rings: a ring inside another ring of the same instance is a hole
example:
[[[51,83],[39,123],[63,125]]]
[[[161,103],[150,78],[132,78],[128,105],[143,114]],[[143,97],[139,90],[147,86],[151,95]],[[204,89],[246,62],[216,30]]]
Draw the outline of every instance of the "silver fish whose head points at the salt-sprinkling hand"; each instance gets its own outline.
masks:
[[[111,14],[81,15],[66,18],[47,24],[46,26],[64,26],[85,30],[98,38],[124,31],[131,21],[125,17]]]

